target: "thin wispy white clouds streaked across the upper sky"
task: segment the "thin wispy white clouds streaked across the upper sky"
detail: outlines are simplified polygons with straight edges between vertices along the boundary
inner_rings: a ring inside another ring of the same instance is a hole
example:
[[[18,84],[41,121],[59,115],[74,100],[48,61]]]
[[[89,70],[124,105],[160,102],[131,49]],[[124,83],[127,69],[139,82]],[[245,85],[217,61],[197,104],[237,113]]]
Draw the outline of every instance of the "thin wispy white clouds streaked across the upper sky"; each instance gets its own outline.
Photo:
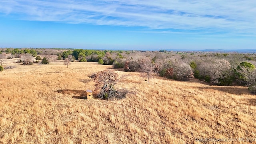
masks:
[[[256,34],[255,0],[1,0],[22,20]]]

